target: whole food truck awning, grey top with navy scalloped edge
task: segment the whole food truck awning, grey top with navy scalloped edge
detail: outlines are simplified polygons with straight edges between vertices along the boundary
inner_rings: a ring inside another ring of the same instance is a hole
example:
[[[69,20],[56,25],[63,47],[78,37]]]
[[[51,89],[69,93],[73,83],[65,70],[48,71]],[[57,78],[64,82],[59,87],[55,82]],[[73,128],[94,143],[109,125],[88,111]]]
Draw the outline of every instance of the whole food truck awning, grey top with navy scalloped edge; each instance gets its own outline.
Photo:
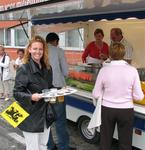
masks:
[[[79,2],[79,1],[78,1]],[[82,2],[82,3],[81,3]],[[85,0],[80,2],[80,8],[75,7],[72,10],[64,10],[62,12],[55,12],[53,14],[39,14],[32,17],[34,25],[51,24],[51,23],[68,23],[89,20],[113,20],[116,18],[126,19],[135,17],[139,19],[145,18],[145,1],[144,0],[116,0],[109,3],[109,1],[91,0],[85,4]],[[84,3],[83,3],[84,2]],[[79,3],[78,3],[79,4]],[[74,5],[75,6],[75,5]],[[78,8],[78,9],[77,9]]]

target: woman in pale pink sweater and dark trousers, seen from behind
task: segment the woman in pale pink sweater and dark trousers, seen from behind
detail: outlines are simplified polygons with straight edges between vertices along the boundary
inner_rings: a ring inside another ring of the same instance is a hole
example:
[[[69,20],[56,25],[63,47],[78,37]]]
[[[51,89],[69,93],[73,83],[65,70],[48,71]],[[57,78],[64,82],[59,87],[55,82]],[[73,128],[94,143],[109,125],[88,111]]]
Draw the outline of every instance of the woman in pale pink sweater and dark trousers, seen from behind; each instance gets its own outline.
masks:
[[[103,93],[100,150],[111,150],[116,124],[119,150],[132,150],[133,100],[142,100],[144,94],[137,70],[123,60],[124,55],[124,46],[113,43],[112,61],[100,70],[93,89],[95,98]]]

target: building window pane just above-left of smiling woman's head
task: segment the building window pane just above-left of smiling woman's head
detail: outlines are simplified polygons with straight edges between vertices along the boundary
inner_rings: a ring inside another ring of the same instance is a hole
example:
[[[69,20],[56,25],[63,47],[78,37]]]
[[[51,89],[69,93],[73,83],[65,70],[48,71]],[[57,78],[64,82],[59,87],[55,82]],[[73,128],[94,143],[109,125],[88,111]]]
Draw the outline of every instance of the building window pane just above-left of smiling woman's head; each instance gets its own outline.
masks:
[[[25,29],[26,32],[28,33],[26,25]],[[15,46],[26,46],[28,38],[25,32],[23,31],[22,27],[21,26],[16,27],[14,30],[15,30]]]

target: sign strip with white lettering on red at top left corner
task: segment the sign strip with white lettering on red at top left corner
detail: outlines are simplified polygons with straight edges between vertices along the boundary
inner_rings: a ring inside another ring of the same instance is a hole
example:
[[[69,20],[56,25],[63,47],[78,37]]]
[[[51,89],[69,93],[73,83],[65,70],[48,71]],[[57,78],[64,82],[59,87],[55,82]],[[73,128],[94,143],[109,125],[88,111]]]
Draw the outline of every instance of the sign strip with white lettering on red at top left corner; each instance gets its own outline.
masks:
[[[14,2],[7,2],[7,3],[3,1],[0,3],[0,11],[6,11],[6,10],[29,6],[32,4],[38,4],[46,1],[49,0],[15,0]]]

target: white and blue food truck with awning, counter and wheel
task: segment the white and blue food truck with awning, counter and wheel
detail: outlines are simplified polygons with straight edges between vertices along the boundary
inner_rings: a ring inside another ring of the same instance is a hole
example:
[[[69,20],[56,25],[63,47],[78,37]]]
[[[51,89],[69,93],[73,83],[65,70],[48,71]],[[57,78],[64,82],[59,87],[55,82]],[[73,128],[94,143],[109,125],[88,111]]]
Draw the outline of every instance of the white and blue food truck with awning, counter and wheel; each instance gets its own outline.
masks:
[[[67,0],[53,1],[53,3],[49,1],[46,5],[25,8],[25,11],[18,9],[10,12],[11,19],[12,15],[14,19],[17,18],[14,15],[17,12],[21,20],[28,19],[32,23],[32,25],[30,23],[30,36],[83,28],[84,47],[93,40],[93,32],[96,28],[103,29],[104,41],[108,44],[110,43],[110,29],[121,28],[124,37],[133,45],[132,65],[138,69],[142,89],[145,91],[145,2],[143,0]],[[8,11],[5,15],[7,14]],[[69,63],[69,77],[66,83],[78,90],[75,94],[66,96],[67,119],[78,124],[80,135],[85,141],[96,143],[99,141],[99,128],[91,134],[87,126],[95,108],[91,92],[101,66],[92,67],[83,64],[82,52],[82,49],[65,50]],[[79,55],[79,59],[76,54]],[[145,149],[145,99],[138,104],[135,103],[134,110],[133,146]],[[117,139],[116,131],[114,138]]]

